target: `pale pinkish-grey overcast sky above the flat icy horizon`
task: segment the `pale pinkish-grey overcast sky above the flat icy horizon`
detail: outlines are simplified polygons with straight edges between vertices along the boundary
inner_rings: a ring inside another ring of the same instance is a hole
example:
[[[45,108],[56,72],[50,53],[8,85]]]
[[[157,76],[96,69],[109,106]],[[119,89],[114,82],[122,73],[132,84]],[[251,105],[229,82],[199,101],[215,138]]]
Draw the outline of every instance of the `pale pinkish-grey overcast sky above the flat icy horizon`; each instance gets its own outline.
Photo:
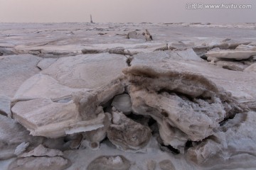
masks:
[[[251,9],[186,9],[186,4]],[[0,22],[256,23],[256,0],[0,0]]]

